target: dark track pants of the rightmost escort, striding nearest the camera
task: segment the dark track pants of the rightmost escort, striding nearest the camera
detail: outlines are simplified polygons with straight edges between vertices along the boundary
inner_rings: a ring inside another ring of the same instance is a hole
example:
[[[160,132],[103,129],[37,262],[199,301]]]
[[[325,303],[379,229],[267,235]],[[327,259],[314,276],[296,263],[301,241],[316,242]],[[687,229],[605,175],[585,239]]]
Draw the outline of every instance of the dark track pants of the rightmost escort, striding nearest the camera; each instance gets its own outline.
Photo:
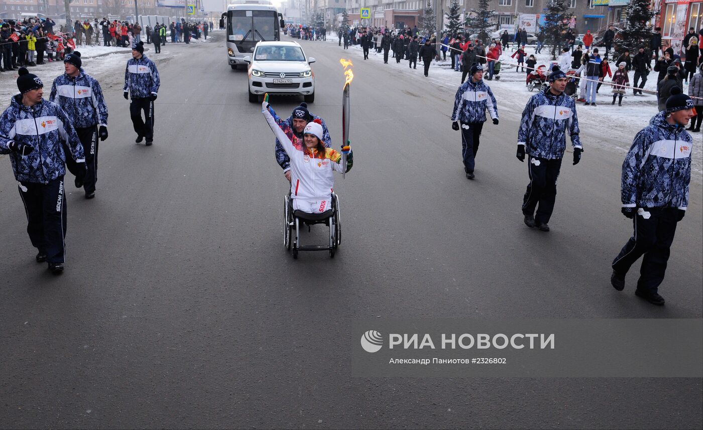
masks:
[[[664,280],[666,261],[669,261],[671,243],[676,233],[678,209],[668,207],[643,209],[643,211],[649,212],[650,218],[645,219],[643,215],[635,215],[633,219],[635,233],[613,260],[612,268],[624,275],[630,270],[630,266],[644,255],[637,289],[643,292],[657,292]]]

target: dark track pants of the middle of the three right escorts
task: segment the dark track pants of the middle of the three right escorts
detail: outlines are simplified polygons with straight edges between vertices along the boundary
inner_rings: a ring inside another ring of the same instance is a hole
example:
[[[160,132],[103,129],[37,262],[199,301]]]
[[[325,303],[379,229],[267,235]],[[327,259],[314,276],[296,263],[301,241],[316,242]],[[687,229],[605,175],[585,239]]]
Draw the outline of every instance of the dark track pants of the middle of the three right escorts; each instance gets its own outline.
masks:
[[[549,223],[557,198],[557,178],[562,168],[562,159],[543,159],[529,156],[527,159],[529,184],[522,200],[522,214],[534,215],[534,221]],[[534,209],[537,214],[534,214]]]

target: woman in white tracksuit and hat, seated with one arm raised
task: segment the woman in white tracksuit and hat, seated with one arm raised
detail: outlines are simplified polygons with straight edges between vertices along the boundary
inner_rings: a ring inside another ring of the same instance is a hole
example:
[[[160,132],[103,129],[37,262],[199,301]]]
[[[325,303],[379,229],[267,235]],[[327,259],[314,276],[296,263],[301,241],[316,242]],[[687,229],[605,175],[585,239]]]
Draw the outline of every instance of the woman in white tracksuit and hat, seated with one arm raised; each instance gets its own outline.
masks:
[[[352,169],[352,150],[349,146],[344,146],[340,154],[332,148],[325,148],[321,139],[322,125],[318,119],[305,126],[303,141],[299,141],[290,126],[269,105],[268,94],[264,96],[262,113],[290,157],[290,197],[293,210],[323,214],[332,209],[335,186],[333,171],[346,173]]]

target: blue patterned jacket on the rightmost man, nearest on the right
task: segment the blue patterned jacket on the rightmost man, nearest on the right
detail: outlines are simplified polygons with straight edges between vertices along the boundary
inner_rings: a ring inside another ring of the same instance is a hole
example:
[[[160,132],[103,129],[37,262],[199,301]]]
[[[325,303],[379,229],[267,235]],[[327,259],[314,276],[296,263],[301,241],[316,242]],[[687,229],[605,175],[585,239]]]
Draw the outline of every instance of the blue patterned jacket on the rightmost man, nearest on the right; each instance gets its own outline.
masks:
[[[623,207],[688,207],[693,139],[659,112],[632,143],[622,164]]]

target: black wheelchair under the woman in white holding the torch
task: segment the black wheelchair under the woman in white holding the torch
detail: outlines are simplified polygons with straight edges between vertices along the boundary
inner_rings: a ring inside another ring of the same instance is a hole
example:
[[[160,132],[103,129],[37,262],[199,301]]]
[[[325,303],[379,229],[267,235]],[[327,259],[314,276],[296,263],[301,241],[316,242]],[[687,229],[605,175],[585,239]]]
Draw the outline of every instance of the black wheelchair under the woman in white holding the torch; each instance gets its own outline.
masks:
[[[342,242],[342,220],[340,219],[340,200],[332,193],[332,209],[321,214],[309,214],[304,211],[293,210],[293,200],[290,193],[285,196],[283,204],[283,246],[291,252],[294,259],[298,258],[299,251],[329,251],[330,258],[335,258],[337,247]],[[325,224],[330,228],[328,245],[300,245],[300,228],[315,224]]]

